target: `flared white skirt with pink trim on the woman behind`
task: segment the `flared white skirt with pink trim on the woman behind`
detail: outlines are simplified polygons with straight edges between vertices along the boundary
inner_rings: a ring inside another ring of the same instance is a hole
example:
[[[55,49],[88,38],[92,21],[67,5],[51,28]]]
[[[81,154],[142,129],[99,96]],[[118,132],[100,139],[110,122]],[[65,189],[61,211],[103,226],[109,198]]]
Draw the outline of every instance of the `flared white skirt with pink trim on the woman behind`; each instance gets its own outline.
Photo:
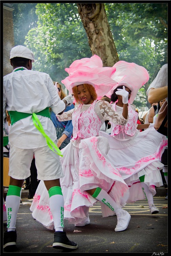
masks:
[[[99,135],[108,139],[110,150],[108,159],[122,175],[129,186],[127,203],[145,199],[139,177],[144,176],[144,183],[148,185],[153,196],[156,188],[163,185],[160,170],[162,153],[167,147],[167,137],[157,132],[153,127],[138,131],[130,140],[117,140],[114,136],[100,131]]]

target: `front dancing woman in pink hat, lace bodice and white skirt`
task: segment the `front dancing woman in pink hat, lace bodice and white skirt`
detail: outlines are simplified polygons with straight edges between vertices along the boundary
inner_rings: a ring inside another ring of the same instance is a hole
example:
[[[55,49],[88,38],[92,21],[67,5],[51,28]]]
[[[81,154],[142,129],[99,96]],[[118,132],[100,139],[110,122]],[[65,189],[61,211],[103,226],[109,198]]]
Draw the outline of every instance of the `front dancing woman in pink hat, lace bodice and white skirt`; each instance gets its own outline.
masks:
[[[86,67],[84,61],[88,62]],[[107,76],[103,77],[104,70],[109,75],[111,74],[109,71],[113,68],[103,68],[101,59],[95,55],[90,59],[77,60],[76,64],[78,62],[79,70],[76,68],[72,73],[71,68],[75,64],[73,63],[70,66],[70,75],[62,83],[69,91],[73,90],[73,96],[79,104],[58,116],[60,121],[72,119],[73,122],[73,138],[70,144],[61,150],[64,178],[60,179],[60,183],[64,196],[64,219],[75,224],[76,227],[87,225],[90,223],[89,207],[100,201],[103,217],[113,215],[115,212],[117,216],[115,231],[123,231],[128,227],[131,219],[130,214],[122,209],[128,200],[129,189],[108,160],[108,140],[99,137],[98,134],[106,119],[120,125],[126,124],[128,92],[124,89],[118,91],[123,99],[123,111],[118,115],[107,101],[97,100],[97,97],[102,97],[113,87],[113,84],[116,84],[115,81],[109,82]],[[80,64],[86,71],[80,70]],[[89,68],[91,64],[94,66]],[[111,85],[108,89],[105,87],[107,83]],[[43,181],[40,181],[30,209],[34,219],[53,229],[49,198]]]

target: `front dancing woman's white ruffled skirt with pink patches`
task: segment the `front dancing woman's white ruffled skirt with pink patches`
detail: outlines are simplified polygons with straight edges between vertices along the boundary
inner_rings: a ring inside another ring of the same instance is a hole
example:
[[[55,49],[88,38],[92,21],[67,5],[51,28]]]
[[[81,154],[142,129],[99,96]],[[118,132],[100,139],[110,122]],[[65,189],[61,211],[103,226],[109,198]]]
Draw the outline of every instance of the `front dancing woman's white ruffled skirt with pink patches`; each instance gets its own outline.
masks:
[[[109,161],[109,143],[105,137],[91,137],[81,140],[79,148],[71,141],[61,150],[64,178],[60,178],[64,196],[64,219],[70,224],[81,222],[89,215],[89,207],[97,200],[85,190],[101,187],[115,200],[118,206],[125,206],[129,197],[128,185],[114,165]],[[49,208],[49,194],[40,181],[31,204],[32,216],[46,228],[53,229],[53,218]],[[113,215],[101,203],[102,216]]]

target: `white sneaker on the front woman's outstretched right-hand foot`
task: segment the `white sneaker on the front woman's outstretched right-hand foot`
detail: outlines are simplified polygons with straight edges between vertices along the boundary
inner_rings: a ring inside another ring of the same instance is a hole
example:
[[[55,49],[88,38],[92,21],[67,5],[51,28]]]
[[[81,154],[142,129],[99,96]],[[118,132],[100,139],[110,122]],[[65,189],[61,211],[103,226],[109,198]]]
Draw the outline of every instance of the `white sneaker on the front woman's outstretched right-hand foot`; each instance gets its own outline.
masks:
[[[123,212],[124,211],[124,212]],[[117,215],[117,225],[115,228],[115,231],[124,231],[129,224],[129,221],[131,219],[131,215],[122,209],[122,212],[119,212]]]

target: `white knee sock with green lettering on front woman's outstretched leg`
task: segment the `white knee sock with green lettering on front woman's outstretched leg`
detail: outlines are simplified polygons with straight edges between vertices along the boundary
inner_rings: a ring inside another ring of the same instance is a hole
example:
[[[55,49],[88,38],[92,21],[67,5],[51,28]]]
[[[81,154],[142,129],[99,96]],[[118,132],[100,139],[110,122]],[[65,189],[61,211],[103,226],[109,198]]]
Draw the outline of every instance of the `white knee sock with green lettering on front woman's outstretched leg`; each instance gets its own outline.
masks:
[[[102,203],[106,204],[112,211],[117,213],[120,213],[123,211],[123,209],[120,207],[120,205],[118,205],[111,197],[109,194],[107,194],[107,192],[103,189],[101,189],[100,193],[98,194],[97,197],[95,197],[96,199],[98,199],[99,201],[101,201]]]

